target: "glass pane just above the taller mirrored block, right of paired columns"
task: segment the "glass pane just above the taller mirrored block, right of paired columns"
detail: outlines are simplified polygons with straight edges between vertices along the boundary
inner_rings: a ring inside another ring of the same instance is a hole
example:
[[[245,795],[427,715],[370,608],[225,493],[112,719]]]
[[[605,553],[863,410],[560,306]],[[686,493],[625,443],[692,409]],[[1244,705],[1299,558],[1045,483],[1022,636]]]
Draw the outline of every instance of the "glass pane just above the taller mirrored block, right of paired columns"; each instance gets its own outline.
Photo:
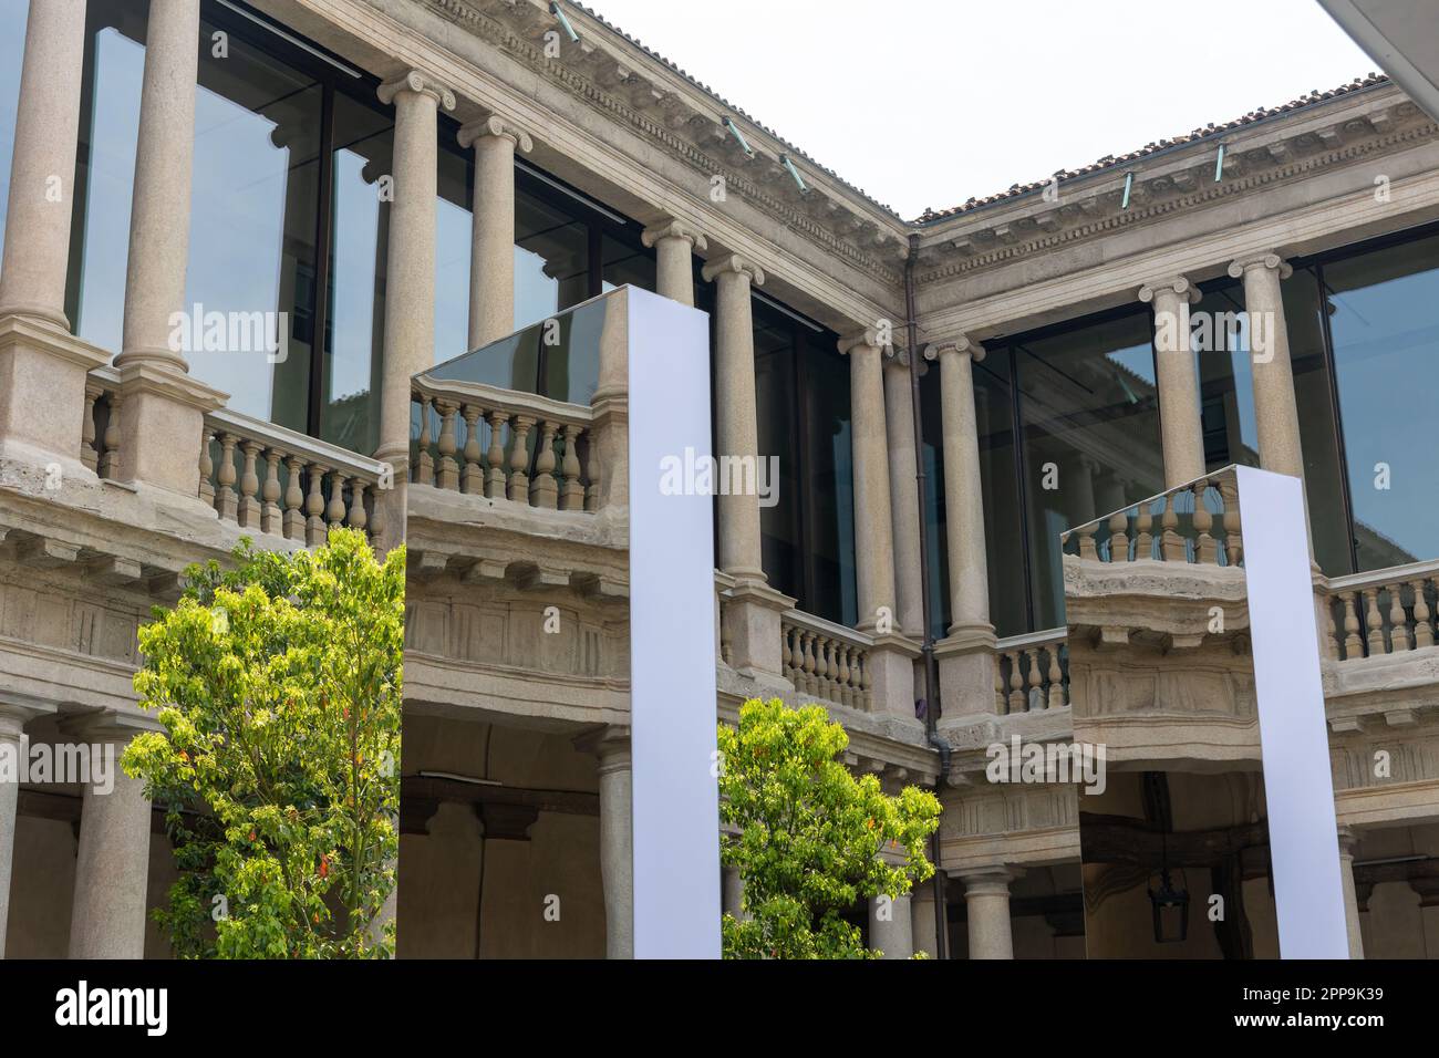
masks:
[[[590,226],[515,189],[515,330],[590,297]]]

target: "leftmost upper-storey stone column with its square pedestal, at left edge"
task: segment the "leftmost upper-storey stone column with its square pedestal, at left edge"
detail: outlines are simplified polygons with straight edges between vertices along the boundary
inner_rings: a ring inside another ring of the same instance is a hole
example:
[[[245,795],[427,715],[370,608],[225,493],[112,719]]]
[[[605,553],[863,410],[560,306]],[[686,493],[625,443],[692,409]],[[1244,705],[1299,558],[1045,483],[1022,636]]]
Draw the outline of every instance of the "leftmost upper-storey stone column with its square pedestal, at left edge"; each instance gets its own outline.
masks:
[[[0,261],[0,453],[82,476],[85,373],[109,358],[65,318],[83,59],[83,0],[32,3]]]

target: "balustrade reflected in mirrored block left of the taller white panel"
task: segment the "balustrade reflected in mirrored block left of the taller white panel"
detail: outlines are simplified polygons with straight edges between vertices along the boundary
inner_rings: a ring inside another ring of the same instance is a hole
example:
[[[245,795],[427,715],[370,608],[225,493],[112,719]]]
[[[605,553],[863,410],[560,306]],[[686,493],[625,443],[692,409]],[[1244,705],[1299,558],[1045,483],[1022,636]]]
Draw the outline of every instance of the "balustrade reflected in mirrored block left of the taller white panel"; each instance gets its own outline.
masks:
[[[414,484],[548,510],[599,508],[591,409],[426,376],[414,380],[412,402]]]

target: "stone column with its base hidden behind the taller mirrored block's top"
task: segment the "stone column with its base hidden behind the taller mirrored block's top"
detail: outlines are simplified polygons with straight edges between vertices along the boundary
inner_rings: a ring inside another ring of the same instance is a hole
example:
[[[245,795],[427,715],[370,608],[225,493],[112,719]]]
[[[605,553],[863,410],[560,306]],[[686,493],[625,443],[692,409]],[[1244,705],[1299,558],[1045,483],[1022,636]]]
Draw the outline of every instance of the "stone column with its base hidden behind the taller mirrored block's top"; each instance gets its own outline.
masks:
[[[491,114],[462,125],[459,145],[475,148],[469,347],[479,348],[515,330],[515,148],[528,153],[534,141]]]

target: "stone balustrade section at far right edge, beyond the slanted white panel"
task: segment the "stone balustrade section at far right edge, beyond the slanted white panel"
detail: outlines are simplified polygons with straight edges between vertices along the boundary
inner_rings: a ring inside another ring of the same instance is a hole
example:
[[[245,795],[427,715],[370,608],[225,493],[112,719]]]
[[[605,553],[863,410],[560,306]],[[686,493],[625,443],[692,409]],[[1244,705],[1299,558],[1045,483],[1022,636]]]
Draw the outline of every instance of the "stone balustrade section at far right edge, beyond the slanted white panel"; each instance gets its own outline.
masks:
[[[1439,561],[1333,577],[1328,654],[1335,661],[1404,654],[1435,645]]]

